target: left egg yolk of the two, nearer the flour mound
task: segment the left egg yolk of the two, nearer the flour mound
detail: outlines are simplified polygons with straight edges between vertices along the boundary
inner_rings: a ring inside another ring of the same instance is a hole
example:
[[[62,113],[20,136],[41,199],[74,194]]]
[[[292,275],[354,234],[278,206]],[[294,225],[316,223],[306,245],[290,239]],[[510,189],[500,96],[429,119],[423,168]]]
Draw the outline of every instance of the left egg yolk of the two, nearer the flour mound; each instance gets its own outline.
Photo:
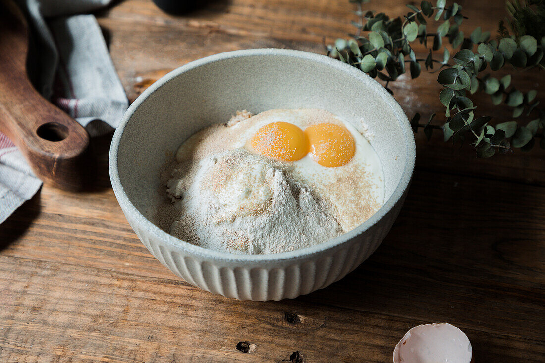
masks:
[[[279,161],[301,160],[308,152],[308,139],[296,125],[272,122],[253,135],[252,148],[267,158]]]

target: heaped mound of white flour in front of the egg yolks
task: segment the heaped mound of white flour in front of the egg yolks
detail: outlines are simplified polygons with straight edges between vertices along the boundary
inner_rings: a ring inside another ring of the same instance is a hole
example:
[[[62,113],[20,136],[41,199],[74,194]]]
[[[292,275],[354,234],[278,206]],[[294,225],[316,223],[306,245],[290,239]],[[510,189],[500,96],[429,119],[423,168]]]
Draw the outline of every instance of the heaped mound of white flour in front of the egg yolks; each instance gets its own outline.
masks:
[[[233,165],[240,172],[222,174]],[[209,156],[191,172],[175,170],[168,187],[181,210],[171,233],[217,251],[278,253],[343,233],[329,207],[290,178],[289,171],[243,148]]]

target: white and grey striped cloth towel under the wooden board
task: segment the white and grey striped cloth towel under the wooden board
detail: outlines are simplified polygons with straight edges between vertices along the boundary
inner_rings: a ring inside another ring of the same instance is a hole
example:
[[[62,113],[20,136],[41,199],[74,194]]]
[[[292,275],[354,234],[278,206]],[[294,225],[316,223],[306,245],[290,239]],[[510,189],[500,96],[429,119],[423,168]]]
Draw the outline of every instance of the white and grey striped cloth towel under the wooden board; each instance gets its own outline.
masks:
[[[129,106],[95,17],[81,15],[111,1],[16,1],[31,29],[28,72],[34,87],[91,136],[116,128]],[[0,223],[40,185],[22,154],[0,133]]]

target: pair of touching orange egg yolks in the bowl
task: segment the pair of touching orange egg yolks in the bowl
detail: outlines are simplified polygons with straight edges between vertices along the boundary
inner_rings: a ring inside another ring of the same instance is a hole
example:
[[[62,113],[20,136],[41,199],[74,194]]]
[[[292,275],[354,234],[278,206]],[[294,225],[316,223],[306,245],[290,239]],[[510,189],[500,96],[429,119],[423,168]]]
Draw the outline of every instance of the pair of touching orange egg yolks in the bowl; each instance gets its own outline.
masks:
[[[301,160],[310,153],[325,167],[347,164],[356,148],[350,131],[332,123],[310,125],[303,131],[288,122],[272,122],[257,130],[251,145],[257,153],[279,161]]]

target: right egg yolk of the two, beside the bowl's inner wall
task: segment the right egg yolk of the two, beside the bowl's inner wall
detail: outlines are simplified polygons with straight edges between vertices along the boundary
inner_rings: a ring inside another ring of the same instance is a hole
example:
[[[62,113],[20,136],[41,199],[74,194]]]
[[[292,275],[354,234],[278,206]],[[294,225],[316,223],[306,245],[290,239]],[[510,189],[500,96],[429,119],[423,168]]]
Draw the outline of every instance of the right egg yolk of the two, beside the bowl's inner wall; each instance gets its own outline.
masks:
[[[346,128],[331,123],[314,124],[305,129],[311,158],[319,165],[337,167],[354,156],[354,138]]]

